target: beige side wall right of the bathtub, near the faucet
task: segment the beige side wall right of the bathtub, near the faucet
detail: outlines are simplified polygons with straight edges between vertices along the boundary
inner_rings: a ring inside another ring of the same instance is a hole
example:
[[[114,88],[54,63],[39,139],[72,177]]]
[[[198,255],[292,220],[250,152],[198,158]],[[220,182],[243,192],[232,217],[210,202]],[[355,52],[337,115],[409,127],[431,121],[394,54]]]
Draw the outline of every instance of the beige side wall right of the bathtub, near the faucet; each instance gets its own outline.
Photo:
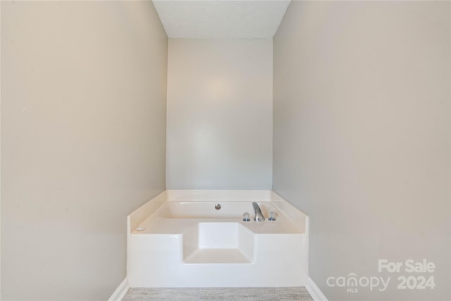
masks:
[[[273,64],[273,189],[310,216],[311,278],[328,300],[450,300],[450,2],[292,1]],[[391,281],[326,285],[350,273]],[[435,289],[397,290],[412,275]]]

